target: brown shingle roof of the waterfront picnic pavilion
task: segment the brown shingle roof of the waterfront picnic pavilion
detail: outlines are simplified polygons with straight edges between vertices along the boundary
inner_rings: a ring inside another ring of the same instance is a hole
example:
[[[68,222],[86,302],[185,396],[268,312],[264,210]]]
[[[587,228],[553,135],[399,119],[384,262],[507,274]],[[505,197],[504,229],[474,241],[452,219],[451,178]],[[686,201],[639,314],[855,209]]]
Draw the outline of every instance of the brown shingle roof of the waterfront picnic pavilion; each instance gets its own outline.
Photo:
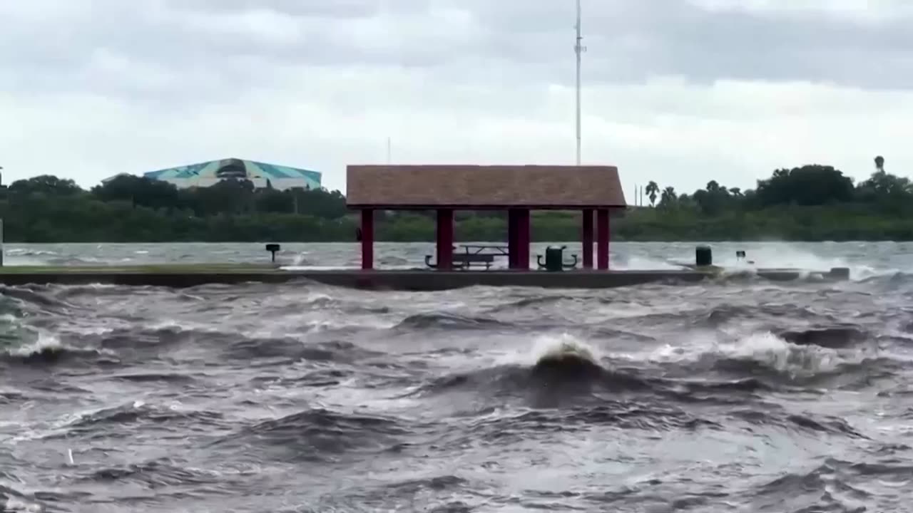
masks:
[[[624,207],[614,166],[350,165],[350,206]]]

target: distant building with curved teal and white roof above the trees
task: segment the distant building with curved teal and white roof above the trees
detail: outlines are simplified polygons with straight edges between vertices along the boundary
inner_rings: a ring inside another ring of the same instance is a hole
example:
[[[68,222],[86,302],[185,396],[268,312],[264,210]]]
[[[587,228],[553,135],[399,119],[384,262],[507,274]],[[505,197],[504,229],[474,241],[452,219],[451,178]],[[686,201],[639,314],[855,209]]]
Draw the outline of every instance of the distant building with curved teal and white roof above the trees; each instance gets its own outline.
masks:
[[[152,180],[173,183],[177,187],[208,187],[226,178],[247,179],[259,188],[272,187],[285,190],[294,187],[320,189],[320,173],[307,169],[246,161],[243,159],[222,159],[198,162],[143,173]]]

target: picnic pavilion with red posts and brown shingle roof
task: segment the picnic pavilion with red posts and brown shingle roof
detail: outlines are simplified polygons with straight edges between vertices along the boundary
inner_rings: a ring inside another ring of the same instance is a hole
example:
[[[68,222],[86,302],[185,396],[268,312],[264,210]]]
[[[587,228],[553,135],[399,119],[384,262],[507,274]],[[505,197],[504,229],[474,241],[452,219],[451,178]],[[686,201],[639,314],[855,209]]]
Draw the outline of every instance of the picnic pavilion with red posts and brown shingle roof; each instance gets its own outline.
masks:
[[[374,260],[375,210],[436,211],[436,268],[453,268],[454,212],[507,210],[511,269],[530,268],[530,211],[580,210],[584,268],[609,268],[609,220],[626,207],[618,169],[593,165],[349,165],[346,203],[362,214],[362,269]]]

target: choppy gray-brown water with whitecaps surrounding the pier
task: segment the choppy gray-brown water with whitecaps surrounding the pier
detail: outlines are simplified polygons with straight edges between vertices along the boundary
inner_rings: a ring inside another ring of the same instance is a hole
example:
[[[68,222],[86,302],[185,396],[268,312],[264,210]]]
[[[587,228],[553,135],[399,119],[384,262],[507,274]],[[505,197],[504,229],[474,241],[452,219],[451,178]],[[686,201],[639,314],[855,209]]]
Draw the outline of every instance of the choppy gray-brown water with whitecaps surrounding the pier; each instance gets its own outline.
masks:
[[[354,245],[284,246],[299,266],[357,264]],[[430,246],[378,257],[408,267]],[[907,511],[913,246],[714,246],[853,279],[0,288],[0,509]],[[613,251],[656,267],[693,245]],[[254,258],[6,247],[7,263]]]

